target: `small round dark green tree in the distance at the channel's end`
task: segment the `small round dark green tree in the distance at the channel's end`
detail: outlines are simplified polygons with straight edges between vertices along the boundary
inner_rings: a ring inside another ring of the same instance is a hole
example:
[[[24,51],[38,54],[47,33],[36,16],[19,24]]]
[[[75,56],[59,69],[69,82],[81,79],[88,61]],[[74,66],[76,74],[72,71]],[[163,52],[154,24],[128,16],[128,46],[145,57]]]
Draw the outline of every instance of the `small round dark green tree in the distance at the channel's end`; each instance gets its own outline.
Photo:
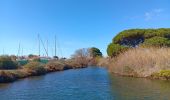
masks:
[[[90,48],[89,51],[90,51],[90,56],[93,58],[94,57],[102,57],[101,51],[96,47]]]

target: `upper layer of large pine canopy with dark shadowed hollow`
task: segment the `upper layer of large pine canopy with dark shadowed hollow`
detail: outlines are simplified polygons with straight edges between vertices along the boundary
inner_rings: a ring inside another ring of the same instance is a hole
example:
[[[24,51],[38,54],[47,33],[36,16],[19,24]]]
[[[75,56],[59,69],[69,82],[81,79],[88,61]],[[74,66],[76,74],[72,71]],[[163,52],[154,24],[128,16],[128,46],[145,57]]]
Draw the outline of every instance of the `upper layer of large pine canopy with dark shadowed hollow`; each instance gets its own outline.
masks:
[[[170,38],[170,29],[161,28],[161,29],[130,29],[120,32],[115,38],[113,38],[113,43],[118,44],[127,44],[125,42],[128,41],[127,46],[132,45],[139,45],[140,43],[144,42],[145,39],[152,38],[152,37],[165,37]],[[141,40],[139,40],[141,39]],[[136,44],[135,44],[136,40]],[[134,41],[134,42],[132,42]]]

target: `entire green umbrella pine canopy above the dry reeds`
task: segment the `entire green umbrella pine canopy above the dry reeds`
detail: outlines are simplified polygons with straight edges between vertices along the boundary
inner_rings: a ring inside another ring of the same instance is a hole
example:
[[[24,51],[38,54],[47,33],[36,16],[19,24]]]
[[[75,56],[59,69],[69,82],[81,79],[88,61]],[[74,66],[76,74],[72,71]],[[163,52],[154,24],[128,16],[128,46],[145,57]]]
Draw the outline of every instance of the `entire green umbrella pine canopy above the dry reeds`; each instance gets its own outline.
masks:
[[[170,28],[124,30],[113,38],[112,43],[108,45],[107,53],[113,57],[119,54],[123,47],[138,46],[170,47]]]

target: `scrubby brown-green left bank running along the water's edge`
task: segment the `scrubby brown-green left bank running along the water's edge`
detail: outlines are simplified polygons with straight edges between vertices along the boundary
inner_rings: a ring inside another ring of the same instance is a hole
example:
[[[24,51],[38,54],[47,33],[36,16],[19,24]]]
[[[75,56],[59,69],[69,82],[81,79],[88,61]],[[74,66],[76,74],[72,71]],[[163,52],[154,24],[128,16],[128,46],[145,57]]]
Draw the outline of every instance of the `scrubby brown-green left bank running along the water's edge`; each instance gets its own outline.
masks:
[[[32,61],[18,69],[10,69],[10,70],[1,69],[0,83],[8,83],[29,76],[39,76],[50,72],[84,68],[84,67],[86,66],[80,66],[78,63],[70,60],[67,61],[54,60],[54,61],[49,61],[47,64],[42,64],[40,62]]]

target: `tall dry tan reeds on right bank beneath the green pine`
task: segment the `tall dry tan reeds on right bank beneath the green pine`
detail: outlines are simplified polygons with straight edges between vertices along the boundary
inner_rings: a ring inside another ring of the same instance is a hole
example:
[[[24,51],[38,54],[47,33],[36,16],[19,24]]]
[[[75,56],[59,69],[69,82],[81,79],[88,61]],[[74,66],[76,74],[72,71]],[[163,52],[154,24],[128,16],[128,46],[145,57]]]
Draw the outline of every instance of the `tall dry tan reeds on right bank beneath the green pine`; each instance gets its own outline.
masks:
[[[170,69],[170,48],[130,49],[113,59],[109,66],[114,73],[147,77]]]

